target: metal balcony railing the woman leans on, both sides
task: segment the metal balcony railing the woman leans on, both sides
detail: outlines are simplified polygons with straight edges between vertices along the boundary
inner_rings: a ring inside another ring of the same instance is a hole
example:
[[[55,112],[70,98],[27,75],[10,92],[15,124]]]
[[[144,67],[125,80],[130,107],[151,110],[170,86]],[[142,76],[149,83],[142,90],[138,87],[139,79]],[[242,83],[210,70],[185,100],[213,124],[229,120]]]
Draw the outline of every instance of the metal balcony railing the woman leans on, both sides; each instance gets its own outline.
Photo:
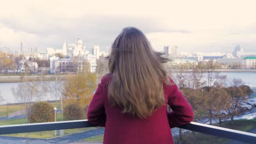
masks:
[[[88,127],[94,127],[94,125],[91,125],[87,120],[2,125],[0,126],[0,135]],[[191,122],[189,124],[182,125],[180,128],[246,143],[256,142],[256,134],[216,127],[213,125]]]

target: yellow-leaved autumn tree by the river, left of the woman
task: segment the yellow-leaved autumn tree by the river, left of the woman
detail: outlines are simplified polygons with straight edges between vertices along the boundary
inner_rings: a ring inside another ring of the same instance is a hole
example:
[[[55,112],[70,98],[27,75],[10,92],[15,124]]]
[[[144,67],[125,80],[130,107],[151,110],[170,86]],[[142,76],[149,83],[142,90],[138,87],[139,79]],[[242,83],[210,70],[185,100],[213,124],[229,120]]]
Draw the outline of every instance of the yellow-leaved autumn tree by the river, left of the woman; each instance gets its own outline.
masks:
[[[63,83],[63,104],[88,105],[96,89],[96,74],[79,73],[67,77]]]

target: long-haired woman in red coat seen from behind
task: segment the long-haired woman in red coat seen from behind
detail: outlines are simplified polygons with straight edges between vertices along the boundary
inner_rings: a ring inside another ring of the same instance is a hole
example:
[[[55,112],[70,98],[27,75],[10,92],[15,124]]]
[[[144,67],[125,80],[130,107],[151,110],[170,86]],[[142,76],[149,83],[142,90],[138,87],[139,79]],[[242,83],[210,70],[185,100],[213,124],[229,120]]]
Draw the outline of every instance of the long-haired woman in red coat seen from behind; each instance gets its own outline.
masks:
[[[137,28],[115,39],[88,108],[88,121],[105,127],[103,143],[173,143],[170,128],[193,121],[193,110],[167,74],[169,59]],[[167,112],[170,105],[172,112]]]

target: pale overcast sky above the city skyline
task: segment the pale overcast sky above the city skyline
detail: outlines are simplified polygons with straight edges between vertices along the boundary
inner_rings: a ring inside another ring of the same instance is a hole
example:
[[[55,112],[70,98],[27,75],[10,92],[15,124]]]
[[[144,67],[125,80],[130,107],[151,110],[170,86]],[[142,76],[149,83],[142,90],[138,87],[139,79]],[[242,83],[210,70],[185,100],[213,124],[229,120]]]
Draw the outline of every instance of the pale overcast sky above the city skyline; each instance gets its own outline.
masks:
[[[0,47],[61,49],[82,38],[108,51],[121,29],[141,29],[155,50],[256,52],[256,1],[10,1],[0,0]]]

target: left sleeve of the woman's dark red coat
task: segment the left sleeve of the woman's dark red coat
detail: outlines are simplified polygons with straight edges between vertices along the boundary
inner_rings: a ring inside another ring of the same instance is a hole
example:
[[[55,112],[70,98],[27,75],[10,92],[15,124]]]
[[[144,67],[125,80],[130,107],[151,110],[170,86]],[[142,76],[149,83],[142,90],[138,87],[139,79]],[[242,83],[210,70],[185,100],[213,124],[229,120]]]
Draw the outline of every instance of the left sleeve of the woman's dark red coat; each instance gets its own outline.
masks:
[[[88,122],[93,125],[105,127],[106,113],[104,108],[104,100],[106,99],[106,87],[104,87],[104,80],[98,84],[97,90],[92,97],[91,103],[88,107],[87,118]]]

